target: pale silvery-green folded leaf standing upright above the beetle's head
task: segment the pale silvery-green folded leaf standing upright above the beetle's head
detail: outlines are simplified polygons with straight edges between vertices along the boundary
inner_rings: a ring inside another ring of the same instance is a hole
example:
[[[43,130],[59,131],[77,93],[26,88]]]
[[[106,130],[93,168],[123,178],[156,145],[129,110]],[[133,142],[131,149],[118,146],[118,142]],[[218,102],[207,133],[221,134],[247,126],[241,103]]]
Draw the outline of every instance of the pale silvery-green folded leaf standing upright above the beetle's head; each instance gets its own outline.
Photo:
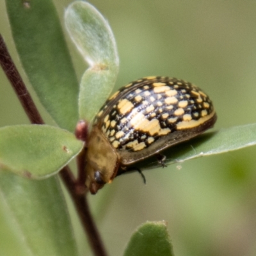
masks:
[[[84,1],[68,6],[65,25],[90,65],[80,84],[79,117],[91,121],[115,85],[119,65],[115,38],[104,17]]]

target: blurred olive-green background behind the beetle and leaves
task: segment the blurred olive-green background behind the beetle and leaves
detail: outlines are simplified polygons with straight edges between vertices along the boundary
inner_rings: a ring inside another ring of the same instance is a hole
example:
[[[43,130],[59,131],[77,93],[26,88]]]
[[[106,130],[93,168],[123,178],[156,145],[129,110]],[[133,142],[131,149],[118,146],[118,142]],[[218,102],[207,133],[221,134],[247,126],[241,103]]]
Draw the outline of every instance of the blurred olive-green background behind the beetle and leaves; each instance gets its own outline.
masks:
[[[62,24],[70,2],[54,1]],[[90,3],[108,19],[115,34],[120,54],[116,88],[144,76],[178,77],[210,95],[218,113],[214,129],[256,122],[256,1]],[[31,88],[12,42],[4,1],[0,13],[0,32]],[[86,63],[67,33],[66,38],[80,79]],[[0,81],[0,126],[27,124],[2,70]],[[42,109],[37,99],[36,104]],[[147,220],[168,221],[177,256],[256,255],[255,154],[256,147],[245,148],[150,170],[145,172],[147,186],[138,173],[123,175],[90,196],[109,255],[122,255],[132,231]],[[70,209],[84,255],[85,237]],[[7,241],[8,232],[1,233]]]

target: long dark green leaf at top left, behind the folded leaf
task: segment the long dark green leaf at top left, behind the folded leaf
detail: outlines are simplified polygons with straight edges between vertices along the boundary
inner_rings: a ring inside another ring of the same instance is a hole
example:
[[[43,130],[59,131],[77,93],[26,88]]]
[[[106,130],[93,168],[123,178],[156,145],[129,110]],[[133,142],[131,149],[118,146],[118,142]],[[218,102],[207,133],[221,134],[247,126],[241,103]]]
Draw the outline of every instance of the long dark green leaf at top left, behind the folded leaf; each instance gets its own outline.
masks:
[[[13,40],[35,92],[56,123],[74,131],[78,82],[54,4],[6,0],[6,8]]]

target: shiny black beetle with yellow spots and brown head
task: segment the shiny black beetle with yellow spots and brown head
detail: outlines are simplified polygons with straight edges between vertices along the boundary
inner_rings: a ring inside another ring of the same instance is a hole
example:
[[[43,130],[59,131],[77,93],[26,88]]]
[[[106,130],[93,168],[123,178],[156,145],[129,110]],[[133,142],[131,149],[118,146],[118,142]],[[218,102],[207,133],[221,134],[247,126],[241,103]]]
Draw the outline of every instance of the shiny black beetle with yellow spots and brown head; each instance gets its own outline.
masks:
[[[92,123],[86,187],[97,193],[131,164],[159,157],[165,148],[211,128],[216,118],[209,97],[184,80],[151,76],[127,84],[109,97]]]

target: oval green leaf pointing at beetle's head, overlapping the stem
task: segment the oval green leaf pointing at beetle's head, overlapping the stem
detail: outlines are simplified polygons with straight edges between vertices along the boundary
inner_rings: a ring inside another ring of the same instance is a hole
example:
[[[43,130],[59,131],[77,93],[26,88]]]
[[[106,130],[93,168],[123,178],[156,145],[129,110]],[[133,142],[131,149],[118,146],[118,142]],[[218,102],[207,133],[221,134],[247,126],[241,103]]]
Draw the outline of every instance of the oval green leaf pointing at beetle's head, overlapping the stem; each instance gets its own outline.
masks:
[[[83,148],[74,134],[49,125],[0,129],[0,166],[29,178],[45,178],[67,165]]]

